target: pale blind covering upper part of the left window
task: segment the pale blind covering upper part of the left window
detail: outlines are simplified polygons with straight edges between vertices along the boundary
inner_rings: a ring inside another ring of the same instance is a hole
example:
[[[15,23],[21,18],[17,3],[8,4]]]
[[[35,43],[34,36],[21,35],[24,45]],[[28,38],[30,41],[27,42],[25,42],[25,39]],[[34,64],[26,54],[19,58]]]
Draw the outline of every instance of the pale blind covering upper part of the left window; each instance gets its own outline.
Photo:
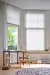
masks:
[[[20,25],[20,10],[14,6],[7,5],[7,22]]]

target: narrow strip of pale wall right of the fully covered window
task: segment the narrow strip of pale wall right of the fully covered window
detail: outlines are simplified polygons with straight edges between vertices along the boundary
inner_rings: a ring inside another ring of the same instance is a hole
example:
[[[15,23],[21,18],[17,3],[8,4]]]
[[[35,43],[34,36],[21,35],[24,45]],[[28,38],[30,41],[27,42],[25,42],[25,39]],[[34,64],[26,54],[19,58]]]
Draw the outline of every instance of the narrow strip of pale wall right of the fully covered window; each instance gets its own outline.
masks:
[[[47,30],[46,30],[46,47],[50,49],[50,11],[46,11],[46,24],[47,24]]]

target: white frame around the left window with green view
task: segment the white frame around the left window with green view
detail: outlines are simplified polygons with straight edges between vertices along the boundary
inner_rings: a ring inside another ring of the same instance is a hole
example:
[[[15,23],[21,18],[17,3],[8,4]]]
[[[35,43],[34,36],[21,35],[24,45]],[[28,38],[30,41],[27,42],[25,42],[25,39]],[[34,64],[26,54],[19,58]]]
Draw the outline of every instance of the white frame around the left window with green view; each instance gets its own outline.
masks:
[[[17,24],[13,24],[13,23],[9,23],[7,22],[7,5],[10,5],[10,4],[5,4],[5,24],[4,24],[4,49],[7,50],[8,49],[8,24],[11,24],[13,26],[17,26],[18,27],[18,46],[19,46],[19,49],[20,50],[20,24],[17,25]],[[12,5],[10,5],[12,6]],[[17,10],[19,10],[20,12],[20,9],[18,7],[14,7],[14,8],[17,8]]]

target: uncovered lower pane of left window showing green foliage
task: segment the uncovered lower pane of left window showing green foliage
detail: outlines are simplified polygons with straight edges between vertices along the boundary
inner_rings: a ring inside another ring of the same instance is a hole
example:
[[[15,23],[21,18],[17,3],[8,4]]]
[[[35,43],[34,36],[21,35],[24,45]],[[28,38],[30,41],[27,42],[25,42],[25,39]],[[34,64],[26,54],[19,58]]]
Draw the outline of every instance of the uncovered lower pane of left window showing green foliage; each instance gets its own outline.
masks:
[[[16,26],[8,26],[8,49],[18,49],[18,28]]]

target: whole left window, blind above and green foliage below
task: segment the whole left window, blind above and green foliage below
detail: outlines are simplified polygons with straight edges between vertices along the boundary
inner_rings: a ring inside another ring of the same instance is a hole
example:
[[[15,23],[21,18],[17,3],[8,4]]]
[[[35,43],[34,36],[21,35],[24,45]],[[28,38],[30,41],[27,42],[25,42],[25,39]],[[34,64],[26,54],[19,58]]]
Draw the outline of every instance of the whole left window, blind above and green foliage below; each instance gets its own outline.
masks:
[[[20,10],[6,5],[6,49],[18,50],[20,32]]]

